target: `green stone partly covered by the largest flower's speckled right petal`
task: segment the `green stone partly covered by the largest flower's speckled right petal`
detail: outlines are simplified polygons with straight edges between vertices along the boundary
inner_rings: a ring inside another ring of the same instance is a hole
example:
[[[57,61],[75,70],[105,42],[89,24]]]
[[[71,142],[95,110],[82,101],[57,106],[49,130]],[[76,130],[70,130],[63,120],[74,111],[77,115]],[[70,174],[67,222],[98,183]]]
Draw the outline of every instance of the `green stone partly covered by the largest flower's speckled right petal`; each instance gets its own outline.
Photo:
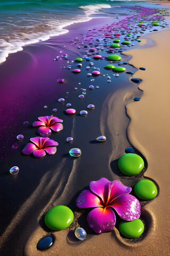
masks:
[[[144,230],[143,222],[140,219],[132,221],[121,221],[118,227],[120,233],[128,238],[137,238],[142,235]]]

